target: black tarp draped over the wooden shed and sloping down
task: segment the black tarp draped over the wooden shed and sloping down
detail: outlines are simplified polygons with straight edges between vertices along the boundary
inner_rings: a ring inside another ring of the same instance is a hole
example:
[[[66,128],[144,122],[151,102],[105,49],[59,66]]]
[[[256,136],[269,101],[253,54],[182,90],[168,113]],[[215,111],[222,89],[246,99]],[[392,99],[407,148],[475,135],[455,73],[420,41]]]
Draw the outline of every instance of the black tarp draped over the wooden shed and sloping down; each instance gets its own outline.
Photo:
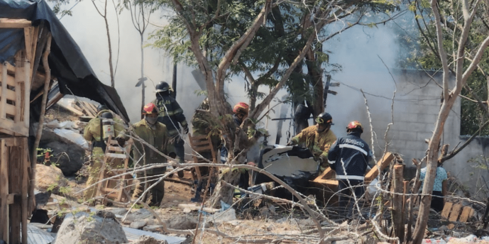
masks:
[[[0,0],[0,18],[26,19],[34,26],[44,22],[52,35],[49,68],[51,75],[58,80],[60,92],[105,104],[129,122],[115,88],[97,79],[80,47],[44,0]],[[0,62],[12,63],[12,57],[22,48],[22,29],[0,28]]]

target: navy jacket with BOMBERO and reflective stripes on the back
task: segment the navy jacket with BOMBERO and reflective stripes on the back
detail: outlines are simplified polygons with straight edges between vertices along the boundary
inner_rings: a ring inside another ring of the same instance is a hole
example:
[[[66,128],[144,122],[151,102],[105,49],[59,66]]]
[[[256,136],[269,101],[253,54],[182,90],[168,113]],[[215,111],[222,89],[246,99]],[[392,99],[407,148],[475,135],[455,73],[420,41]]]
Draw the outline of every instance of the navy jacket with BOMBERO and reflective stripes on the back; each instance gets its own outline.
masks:
[[[363,180],[370,156],[369,146],[360,133],[350,132],[331,145],[328,163],[338,180]]]

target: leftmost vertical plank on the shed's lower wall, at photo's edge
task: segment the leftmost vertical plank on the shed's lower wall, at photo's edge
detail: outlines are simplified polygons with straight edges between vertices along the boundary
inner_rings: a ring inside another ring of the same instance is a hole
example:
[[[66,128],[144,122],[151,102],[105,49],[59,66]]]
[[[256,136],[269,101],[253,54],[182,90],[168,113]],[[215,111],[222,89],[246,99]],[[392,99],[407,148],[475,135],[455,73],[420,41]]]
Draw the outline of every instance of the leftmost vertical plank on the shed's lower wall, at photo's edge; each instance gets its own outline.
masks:
[[[9,183],[9,173],[8,173],[8,154],[7,147],[5,146],[5,140],[0,140],[0,199],[1,199],[1,207],[0,207],[0,239],[9,243],[8,239],[8,205],[7,197],[8,197],[8,183]]]

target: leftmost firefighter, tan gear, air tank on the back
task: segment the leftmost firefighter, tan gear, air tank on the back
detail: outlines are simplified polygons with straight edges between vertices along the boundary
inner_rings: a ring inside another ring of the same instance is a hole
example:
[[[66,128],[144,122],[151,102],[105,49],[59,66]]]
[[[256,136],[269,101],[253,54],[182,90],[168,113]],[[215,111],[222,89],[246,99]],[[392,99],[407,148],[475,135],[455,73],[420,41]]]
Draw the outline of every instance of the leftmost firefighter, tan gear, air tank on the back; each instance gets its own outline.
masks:
[[[96,185],[90,185],[98,181],[100,168],[104,160],[106,140],[109,135],[115,137],[115,135],[124,130],[121,122],[114,122],[113,114],[107,107],[101,105],[97,110],[99,110],[97,117],[88,122],[83,133],[85,140],[91,142],[91,165],[89,166],[89,179],[87,180],[87,186],[89,187],[84,192],[85,201],[91,201],[97,193]]]

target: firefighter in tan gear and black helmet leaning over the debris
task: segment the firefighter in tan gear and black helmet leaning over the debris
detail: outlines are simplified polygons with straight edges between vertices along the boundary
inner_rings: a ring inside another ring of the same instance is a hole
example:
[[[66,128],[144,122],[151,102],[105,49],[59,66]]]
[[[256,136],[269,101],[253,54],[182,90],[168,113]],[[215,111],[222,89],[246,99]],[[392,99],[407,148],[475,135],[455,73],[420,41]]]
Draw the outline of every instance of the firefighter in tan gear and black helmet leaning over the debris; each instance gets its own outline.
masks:
[[[303,129],[299,134],[290,139],[287,145],[304,143],[319,162],[319,173],[328,167],[328,150],[336,140],[336,135],[330,130],[333,125],[333,117],[329,113],[321,113],[316,117],[317,124]]]

